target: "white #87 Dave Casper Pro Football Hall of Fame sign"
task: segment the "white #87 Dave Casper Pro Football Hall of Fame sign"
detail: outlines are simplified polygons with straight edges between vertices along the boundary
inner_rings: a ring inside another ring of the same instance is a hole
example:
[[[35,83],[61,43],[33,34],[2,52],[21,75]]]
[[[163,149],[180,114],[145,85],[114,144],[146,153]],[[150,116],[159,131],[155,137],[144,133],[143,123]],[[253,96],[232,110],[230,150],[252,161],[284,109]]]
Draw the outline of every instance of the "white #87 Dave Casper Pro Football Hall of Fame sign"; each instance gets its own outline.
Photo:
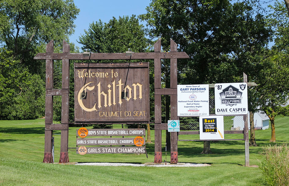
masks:
[[[217,115],[247,114],[247,83],[215,84],[215,113]]]

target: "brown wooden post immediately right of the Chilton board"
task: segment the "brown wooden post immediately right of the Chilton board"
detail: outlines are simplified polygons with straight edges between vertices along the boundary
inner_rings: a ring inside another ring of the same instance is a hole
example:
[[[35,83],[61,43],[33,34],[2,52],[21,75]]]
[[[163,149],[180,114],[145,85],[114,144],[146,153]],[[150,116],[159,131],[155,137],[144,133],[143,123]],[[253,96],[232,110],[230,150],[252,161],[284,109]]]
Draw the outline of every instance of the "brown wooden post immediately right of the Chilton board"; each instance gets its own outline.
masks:
[[[161,51],[161,39],[154,44],[154,51]],[[161,59],[154,59],[155,65],[155,89],[161,88]],[[162,123],[162,100],[161,95],[155,95],[155,124]],[[162,162],[162,130],[155,129],[155,159],[154,163]]]

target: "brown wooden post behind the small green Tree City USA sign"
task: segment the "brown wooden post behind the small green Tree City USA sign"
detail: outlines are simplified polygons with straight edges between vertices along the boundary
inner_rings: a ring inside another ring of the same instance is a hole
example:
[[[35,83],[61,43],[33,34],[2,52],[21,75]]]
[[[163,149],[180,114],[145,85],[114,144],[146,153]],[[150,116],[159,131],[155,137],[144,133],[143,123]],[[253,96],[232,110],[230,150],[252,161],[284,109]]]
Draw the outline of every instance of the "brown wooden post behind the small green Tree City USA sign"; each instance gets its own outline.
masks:
[[[170,52],[177,52],[177,44],[170,39]],[[170,88],[177,89],[177,59],[170,59]],[[177,120],[177,95],[170,96],[170,119]],[[170,163],[177,163],[177,132],[170,134]]]

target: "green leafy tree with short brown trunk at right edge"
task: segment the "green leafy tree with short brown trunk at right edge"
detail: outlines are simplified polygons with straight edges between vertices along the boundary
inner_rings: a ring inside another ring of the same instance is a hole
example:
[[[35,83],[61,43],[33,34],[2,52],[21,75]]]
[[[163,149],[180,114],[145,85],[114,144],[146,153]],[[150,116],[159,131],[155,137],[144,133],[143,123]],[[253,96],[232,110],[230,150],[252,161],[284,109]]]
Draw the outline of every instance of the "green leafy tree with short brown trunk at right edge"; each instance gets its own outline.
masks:
[[[270,119],[270,141],[275,142],[275,117],[289,112],[286,106],[289,100],[289,14],[285,4],[279,1],[270,8],[273,12],[268,16],[268,24],[274,30],[275,44],[265,60],[269,68],[261,71],[258,102]]]

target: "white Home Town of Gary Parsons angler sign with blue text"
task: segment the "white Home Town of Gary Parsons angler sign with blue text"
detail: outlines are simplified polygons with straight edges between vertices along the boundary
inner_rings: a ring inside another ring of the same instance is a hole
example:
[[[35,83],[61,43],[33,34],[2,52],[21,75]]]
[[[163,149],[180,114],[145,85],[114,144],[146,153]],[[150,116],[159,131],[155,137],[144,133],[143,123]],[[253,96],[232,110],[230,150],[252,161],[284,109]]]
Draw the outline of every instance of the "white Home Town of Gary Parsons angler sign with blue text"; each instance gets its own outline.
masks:
[[[177,115],[208,116],[209,85],[178,85]]]

